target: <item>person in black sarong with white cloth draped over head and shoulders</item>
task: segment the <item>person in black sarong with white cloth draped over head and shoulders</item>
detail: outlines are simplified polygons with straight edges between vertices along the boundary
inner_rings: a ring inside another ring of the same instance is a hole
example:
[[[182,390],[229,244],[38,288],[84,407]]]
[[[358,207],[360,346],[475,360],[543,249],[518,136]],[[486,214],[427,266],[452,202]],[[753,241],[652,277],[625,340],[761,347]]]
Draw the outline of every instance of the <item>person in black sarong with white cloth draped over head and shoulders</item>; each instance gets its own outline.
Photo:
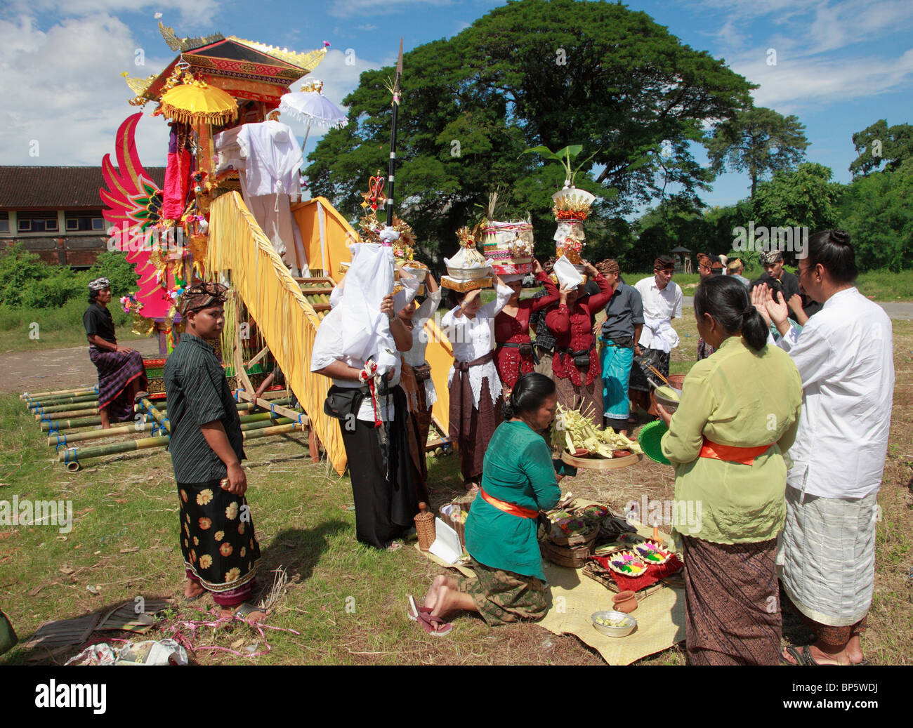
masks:
[[[356,536],[389,550],[401,546],[396,539],[413,525],[419,502],[427,500],[410,455],[411,428],[399,387],[398,351],[412,346],[412,336],[395,316],[393,286],[393,249],[352,245],[346,285],[320,322],[310,359],[311,371],[333,380],[324,411],[340,420]]]

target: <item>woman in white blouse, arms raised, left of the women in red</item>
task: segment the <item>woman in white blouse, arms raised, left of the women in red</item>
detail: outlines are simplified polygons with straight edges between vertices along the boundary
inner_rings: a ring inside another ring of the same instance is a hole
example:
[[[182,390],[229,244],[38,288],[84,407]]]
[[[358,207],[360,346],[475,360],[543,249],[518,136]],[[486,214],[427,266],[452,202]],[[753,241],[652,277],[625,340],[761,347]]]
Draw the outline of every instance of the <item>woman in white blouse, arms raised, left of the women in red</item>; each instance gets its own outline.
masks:
[[[459,450],[460,470],[467,490],[477,488],[488,441],[501,421],[501,380],[491,350],[494,319],[513,289],[500,277],[497,297],[482,306],[481,289],[456,293],[456,306],[441,317],[454,349],[447,375],[450,388],[450,442]]]

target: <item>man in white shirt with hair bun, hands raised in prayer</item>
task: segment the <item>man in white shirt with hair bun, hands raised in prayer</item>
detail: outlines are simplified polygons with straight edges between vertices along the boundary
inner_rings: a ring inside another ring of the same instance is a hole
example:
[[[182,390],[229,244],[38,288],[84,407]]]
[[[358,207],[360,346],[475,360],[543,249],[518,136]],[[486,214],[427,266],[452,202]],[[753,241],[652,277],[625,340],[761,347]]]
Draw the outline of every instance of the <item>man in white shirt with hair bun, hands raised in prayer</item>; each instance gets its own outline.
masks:
[[[801,332],[790,327],[782,297],[775,303],[765,295],[767,313],[782,334],[777,343],[803,380],[778,563],[783,589],[817,637],[801,650],[787,648],[783,660],[861,664],[859,638],[875,583],[876,496],[894,395],[891,321],[853,285],[848,234],[813,234],[808,251],[799,262],[799,283],[824,307]]]

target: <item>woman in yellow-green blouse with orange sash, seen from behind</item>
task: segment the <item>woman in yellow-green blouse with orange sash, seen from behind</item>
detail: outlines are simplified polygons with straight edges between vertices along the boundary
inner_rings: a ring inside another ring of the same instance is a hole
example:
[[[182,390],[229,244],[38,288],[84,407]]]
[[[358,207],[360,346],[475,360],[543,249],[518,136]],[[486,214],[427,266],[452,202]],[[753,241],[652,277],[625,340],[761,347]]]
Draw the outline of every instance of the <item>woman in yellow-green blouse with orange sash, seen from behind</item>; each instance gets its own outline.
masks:
[[[698,333],[716,353],[695,364],[677,411],[659,416],[662,451],[676,469],[676,503],[696,504],[677,526],[685,555],[687,660],[777,664],[782,619],[774,565],[783,527],[785,452],[795,440],[802,381],[748,291],[729,276],[694,296]]]

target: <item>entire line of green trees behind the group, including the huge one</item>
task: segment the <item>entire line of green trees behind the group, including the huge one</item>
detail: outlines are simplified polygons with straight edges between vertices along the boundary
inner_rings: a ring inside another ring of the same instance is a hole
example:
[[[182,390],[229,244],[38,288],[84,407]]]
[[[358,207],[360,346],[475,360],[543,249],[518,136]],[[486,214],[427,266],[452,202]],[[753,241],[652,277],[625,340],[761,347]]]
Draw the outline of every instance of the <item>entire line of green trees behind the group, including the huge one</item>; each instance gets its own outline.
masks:
[[[352,121],[309,156],[311,192],[352,220],[368,177],[385,168],[393,72],[362,73],[343,99]],[[580,159],[593,159],[576,184],[600,198],[586,224],[593,259],[614,255],[627,270],[646,270],[679,244],[728,254],[732,228],[754,220],[842,226],[863,269],[913,265],[913,127],[879,120],[854,134],[859,157],[843,185],[803,162],[802,123],[755,108],[752,88],[624,5],[514,0],[405,55],[397,208],[418,255],[439,265],[456,249],[456,230],[477,222],[498,192],[498,218],[529,216],[537,254],[550,255],[551,193],[564,172],[522,152],[580,143]],[[706,166],[694,156],[700,145]],[[708,208],[700,193],[727,170],[749,175],[750,194]]]

